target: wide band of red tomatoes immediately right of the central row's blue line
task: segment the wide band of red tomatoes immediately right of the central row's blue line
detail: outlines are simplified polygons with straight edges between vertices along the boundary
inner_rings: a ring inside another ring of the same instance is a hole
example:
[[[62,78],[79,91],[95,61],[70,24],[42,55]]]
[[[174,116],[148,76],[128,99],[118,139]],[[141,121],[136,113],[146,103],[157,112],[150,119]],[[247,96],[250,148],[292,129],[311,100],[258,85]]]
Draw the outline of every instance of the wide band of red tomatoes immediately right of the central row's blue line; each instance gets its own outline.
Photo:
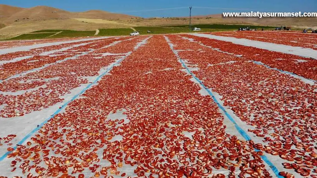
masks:
[[[222,44],[190,37],[214,48]],[[244,56],[219,52],[176,35],[170,39],[180,50],[180,58],[199,68],[194,73],[204,85],[221,95],[223,105],[253,127],[248,131],[262,140],[256,149],[293,163],[284,167],[302,176],[316,176],[310,174],[317,173],[316,85],[249,62]],[[261,53],[259,57],[263,57]]]

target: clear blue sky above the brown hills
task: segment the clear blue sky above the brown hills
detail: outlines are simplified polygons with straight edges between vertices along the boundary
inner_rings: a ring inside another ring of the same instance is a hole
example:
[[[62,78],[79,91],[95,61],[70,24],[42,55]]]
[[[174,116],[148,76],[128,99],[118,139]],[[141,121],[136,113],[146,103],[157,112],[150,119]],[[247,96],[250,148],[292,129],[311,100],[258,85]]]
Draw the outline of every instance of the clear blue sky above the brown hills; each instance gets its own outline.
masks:
[[[0,4],[24,8],[45,5],[75,12],[100,9],[141,17],[188,16],[188,8],[166,8],[189,6],[193,6],[193,15],[251,10],[262,12],[315,12],[317,9],[317,0],[0,0]]]

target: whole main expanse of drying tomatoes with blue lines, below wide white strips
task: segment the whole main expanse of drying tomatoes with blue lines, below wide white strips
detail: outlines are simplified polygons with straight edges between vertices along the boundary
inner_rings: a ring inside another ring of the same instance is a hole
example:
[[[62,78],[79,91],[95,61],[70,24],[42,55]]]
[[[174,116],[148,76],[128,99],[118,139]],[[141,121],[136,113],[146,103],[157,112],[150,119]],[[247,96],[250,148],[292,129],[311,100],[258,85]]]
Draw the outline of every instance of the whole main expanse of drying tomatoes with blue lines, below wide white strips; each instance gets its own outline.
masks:
[[[315,59],[187,34],[42,45],[0,49],[1,178],[317,177]]]

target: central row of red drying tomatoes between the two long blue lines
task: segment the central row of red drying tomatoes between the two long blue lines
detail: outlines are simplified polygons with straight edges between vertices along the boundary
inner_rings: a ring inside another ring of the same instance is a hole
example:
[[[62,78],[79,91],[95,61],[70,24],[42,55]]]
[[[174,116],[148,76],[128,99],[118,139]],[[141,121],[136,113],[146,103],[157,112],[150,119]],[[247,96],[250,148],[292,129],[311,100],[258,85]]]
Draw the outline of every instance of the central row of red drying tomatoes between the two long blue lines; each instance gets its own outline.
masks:
[[[270,177],[263,152],[227,132],[183,69],[153,36],[10,153],[12,175]]]

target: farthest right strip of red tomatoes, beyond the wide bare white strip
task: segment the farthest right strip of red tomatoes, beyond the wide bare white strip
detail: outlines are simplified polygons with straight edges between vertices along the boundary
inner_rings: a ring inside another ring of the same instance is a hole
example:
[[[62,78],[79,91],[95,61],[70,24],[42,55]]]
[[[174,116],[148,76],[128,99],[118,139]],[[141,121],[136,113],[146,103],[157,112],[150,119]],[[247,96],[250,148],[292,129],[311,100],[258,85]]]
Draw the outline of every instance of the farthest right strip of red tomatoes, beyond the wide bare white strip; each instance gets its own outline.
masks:
[[[262,32],[262,31],[238,31],[238,32],[214,32],[211,34],[245,38],[249,40],[277,43],[289,46],[299,46],[317,50],[317,34]]]

